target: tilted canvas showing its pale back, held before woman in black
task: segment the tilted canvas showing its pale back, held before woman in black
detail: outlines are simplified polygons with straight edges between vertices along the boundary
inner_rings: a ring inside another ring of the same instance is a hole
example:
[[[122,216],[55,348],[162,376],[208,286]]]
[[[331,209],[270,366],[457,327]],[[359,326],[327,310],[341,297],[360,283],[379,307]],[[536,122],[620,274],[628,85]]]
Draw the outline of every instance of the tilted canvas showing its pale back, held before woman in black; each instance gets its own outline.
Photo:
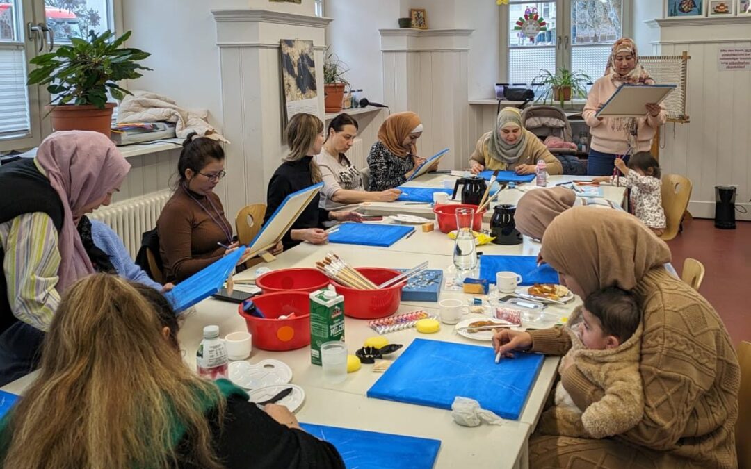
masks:
[[[255,256],[276,246],[322,187],[324,183],[318,182],[285,197],[248,245],[249,256]]]

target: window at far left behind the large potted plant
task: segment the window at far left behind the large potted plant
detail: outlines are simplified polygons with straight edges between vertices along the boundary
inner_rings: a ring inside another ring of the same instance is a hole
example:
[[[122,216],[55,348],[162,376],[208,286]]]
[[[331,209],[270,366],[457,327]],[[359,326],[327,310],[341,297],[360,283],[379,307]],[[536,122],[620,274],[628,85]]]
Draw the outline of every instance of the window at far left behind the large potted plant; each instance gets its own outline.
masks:
[[[29,59],[71,38],[86,38],[89,30],[114,30],[115,1],[0,0],[0,150],[41,140],[40,116],[50,96],[26,86]]]

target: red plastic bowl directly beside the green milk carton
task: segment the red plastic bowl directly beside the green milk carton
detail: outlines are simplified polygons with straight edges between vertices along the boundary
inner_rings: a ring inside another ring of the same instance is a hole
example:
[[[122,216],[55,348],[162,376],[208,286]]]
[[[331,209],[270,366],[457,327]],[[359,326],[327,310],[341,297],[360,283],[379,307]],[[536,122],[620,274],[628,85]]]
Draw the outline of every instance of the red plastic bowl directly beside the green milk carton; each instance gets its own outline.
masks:
[[[308,293],[292,291],[264,293],[253,297],[256,307],[265,318],[251,316],[237,309],[245,318],[251,333],[253,347],[261,350],[295,350],[310,345],[310,298]],[[291,319],[276,319],[282,314],[294,313]]]

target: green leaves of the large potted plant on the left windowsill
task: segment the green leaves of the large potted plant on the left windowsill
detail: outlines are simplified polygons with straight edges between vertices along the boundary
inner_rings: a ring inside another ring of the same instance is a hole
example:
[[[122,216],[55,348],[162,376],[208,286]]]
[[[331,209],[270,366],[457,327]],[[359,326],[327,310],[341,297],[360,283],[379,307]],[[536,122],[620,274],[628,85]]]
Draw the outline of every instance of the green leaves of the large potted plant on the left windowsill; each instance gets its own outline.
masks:
[[[88,41],[71,38],[70,46],[36,56],[30,62],[37,68],[29,73],[26,84],[47,85],[47,91],[55,95],[50,104],[92,104],[104,109],[107,91],[122,100],[131,93],[117,82],[142,77],[139,71],[151,70],[138,63],[151,54],[121,47],[131,37],[130,31],[113,37],[111,31],[101,35],[90,31]]]

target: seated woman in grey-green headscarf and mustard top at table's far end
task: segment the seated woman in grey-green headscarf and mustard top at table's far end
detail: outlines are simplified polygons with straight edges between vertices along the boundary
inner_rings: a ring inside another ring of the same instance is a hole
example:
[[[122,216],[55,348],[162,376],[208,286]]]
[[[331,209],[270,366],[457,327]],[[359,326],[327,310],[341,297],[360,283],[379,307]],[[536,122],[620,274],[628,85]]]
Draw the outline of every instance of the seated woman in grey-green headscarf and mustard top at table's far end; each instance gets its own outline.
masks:
[[[550,175],[562,174],[558,158],[535,134],[521,124],[521,113],[515,107],[505,107],[498,113],[496,129],[487,132],[469,157],[472,174],[484,170],[514,170],[517,174],[534,174],[538,160],[547,164]]]

